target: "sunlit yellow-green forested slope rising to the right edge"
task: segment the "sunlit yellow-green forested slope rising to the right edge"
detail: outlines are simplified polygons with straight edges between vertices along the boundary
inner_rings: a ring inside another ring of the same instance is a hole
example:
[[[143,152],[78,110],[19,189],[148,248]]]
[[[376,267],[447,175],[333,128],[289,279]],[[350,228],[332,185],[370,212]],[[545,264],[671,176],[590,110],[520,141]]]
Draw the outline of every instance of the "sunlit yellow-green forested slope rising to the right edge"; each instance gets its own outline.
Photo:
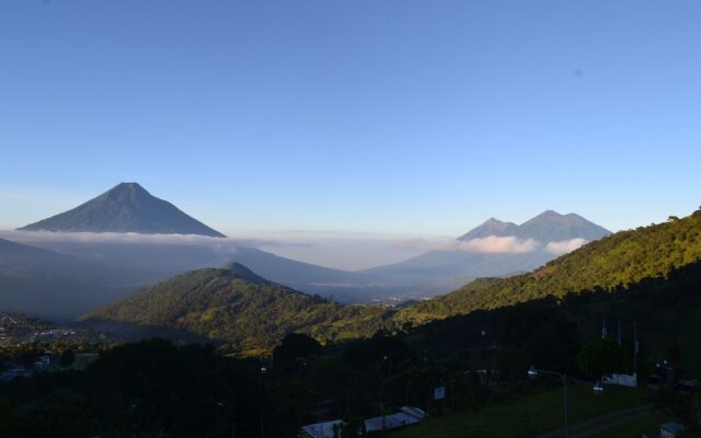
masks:
[[[660,224],[621,231],[591,242],[525,275],[469,284],[402,309],[400,321],[422,323],[478,309],[496,309],[547,296],[623,291],[645,279],[667,278],[701,261],[701,210]]]

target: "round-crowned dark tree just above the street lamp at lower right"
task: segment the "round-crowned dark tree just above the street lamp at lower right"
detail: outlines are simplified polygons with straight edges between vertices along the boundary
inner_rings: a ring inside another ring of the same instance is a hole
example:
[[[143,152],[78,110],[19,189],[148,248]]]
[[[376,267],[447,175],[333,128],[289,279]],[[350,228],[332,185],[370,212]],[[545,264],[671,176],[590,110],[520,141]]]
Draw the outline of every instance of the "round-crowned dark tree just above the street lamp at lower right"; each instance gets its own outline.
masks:
[[[614,339],[597,338],[585,344],[577,354],[577,362],[584,374],[598,380],[605,374],[622,372],[628,355]]]

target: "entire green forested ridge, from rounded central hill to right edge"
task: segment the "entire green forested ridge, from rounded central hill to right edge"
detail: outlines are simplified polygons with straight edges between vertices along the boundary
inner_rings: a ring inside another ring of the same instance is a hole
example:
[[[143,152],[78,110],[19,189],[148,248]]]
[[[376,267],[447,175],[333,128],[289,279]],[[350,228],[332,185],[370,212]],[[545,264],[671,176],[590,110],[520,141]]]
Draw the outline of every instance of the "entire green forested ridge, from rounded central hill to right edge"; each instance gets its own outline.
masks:
[[[529,274],[478,279],[446,296],[395,310],[338,304],[271,283],[233,264],[173,277],[84,319],[182,328],[254,354],[269,351],[292,332],[307,333],[327,343],[368,337],[378,330],[416,327],[433,320],[547,297],[572,302],[584,292],[594,292],[597,297],[617,292],[608,301],[619,302],[633,288],[642,287],[651,293],[674,289],[680,280],[669,277],[699,262],[701,211],[683,219],[670,218],[666,223],[618,232]],[[694,277],[692,272],[685,275],[685,278]],[[683,297],[688,297],[690,279],[683,281]],[[584,303],[576,306],[585,308]],[[647,308],[645,303],[635,306],[641,314],[646,313]],[[598,311],[590,313],[598,314]],[[600,322],[599,316],[595,320]]]

